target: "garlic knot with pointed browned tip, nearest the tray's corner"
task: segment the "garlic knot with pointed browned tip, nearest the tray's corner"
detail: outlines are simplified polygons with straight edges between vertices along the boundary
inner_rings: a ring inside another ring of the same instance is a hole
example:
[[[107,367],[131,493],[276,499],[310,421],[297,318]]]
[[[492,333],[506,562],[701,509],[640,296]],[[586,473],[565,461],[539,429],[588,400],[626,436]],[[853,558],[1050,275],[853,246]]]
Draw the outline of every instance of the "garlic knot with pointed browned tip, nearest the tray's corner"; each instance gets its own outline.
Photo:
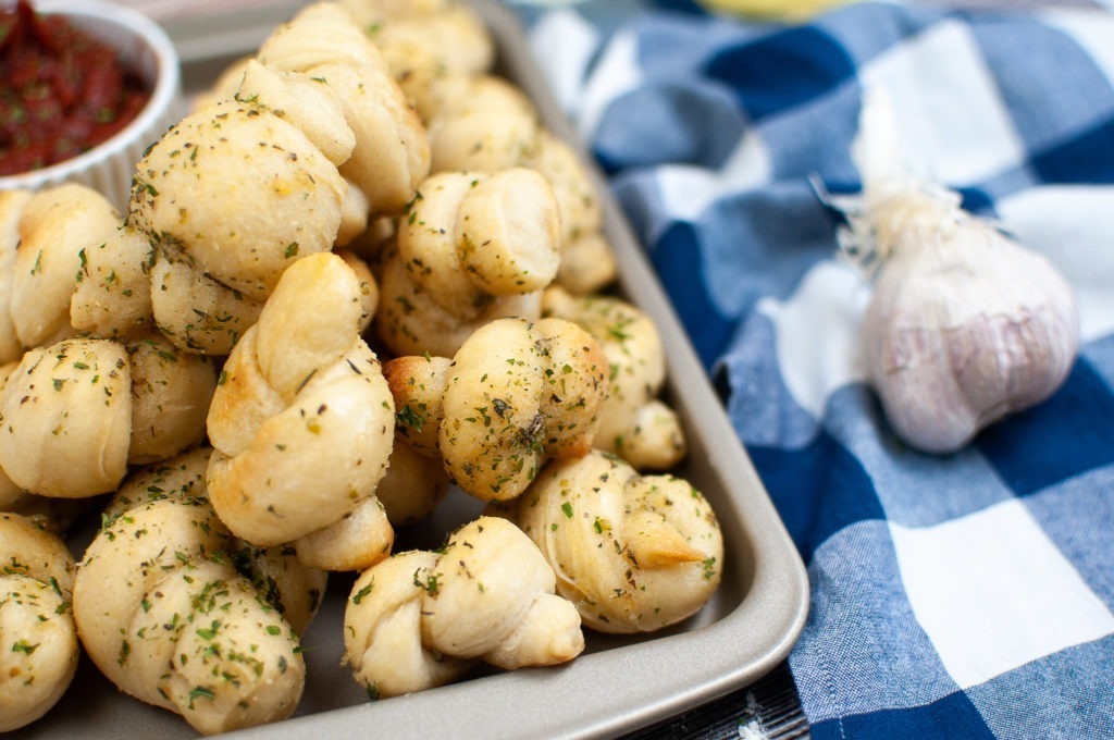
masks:
[[[703,495],[598,450],[549,464],[492,512],[530,536],[557,574],[557,593],[599,632],[675,624],[720,584],[723,536]]]

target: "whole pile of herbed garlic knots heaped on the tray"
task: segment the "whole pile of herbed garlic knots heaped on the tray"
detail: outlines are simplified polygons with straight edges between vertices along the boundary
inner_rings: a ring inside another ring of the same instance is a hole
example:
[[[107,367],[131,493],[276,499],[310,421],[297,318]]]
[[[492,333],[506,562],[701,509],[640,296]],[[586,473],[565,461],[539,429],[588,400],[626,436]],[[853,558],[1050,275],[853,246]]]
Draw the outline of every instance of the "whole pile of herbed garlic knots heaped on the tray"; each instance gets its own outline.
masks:
[[[723,542],[577,153],[452,0],[306,6],[136,164],[0,193],[0,731],[79,651],[211,734],[700,611]],[[450,486],[486,507],[395,547]],[[67,535],[100,526],[82,553]]]

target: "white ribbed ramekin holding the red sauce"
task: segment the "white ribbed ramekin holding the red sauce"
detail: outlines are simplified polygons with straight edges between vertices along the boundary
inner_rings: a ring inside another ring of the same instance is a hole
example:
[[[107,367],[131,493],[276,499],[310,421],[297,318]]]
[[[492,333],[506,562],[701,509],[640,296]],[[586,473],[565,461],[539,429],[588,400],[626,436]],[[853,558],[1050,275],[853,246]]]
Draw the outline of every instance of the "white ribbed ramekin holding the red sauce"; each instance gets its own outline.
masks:
[[[36,11],[61,13],[76,27],[117,49],[123,64],[150,87],[136,118],[111,138],[72,159],[0,177],[0,189],[41,189],[77,182],[99,191],[123,213],[144,149],[183,115],[182,71],[174,43],[158,23],[130,8],[100,0],[38,0]]]

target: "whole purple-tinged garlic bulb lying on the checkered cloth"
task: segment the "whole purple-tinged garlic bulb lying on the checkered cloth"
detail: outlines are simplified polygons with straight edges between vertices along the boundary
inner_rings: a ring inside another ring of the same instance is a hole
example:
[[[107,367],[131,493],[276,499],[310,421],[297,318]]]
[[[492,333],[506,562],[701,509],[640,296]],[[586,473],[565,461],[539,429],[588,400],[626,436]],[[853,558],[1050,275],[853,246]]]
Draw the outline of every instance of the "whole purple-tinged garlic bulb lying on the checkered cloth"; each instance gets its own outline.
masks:
[[[868,377],[909,445],[960,449],[1056,391],[1078,350],[1072,288],[1040,254],[964,212],[959,196],[895,166],[885,99],[863,107],[861,212],[843,246],[873,261],[862,324]]]

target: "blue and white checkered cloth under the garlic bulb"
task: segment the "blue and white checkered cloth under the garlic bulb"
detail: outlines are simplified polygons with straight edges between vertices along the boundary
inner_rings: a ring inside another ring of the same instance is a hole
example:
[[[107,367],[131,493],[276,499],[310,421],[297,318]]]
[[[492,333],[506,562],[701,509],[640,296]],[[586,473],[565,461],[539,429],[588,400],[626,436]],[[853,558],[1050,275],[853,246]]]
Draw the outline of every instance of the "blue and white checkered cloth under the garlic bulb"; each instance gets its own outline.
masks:
[[[808,565],[790,666],[813,736],[1114,737],[1114,16],[664,4],[528,11],[531,43]],[[1066,384],[955,455],[887,426],[870,289],[810,183],[858,188],[870,84],[915,168],[1077,293]]]

